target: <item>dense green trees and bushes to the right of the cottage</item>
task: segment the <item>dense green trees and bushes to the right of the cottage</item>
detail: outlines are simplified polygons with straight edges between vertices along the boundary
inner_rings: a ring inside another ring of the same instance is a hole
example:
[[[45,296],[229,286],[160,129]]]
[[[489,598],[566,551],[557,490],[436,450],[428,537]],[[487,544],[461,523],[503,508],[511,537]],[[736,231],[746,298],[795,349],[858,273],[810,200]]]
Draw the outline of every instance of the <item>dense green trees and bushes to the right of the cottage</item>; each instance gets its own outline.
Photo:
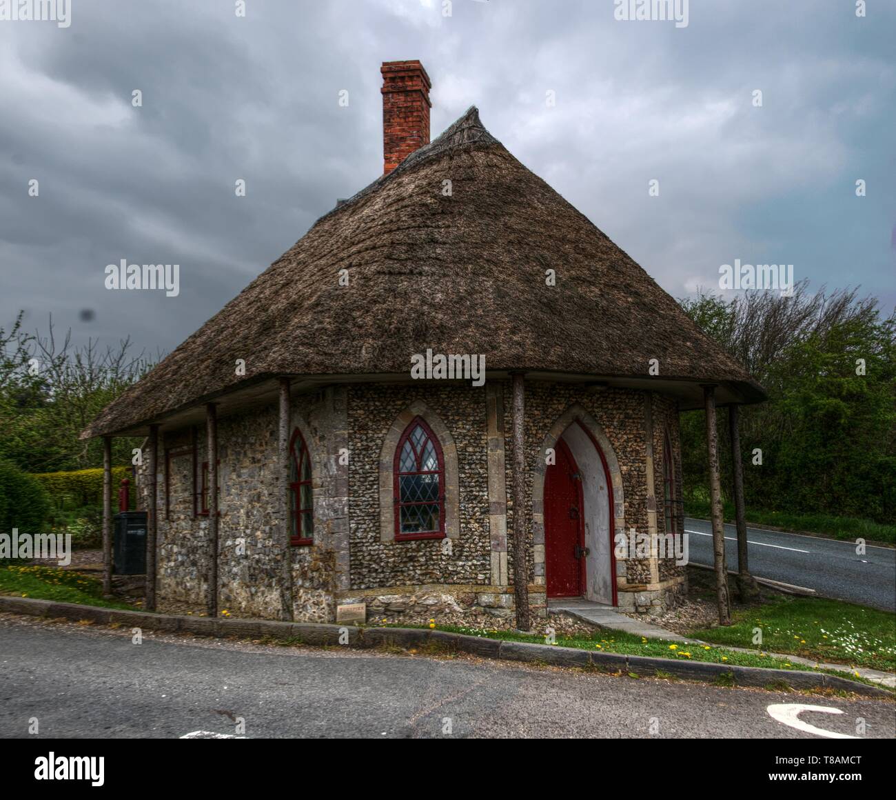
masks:
[[[806,282],[792,297],[701,292],[679,302],[769,393],[741,413],[747,505],[896,520],[896,317],[883,318],[877,301],[855,290],[812,294]],[[731,465],[722,422],[724,491]],[[762,465],[752,463],[754,448]],[[682,450],[685,492],[702,497],[702,412],[682,415]]]

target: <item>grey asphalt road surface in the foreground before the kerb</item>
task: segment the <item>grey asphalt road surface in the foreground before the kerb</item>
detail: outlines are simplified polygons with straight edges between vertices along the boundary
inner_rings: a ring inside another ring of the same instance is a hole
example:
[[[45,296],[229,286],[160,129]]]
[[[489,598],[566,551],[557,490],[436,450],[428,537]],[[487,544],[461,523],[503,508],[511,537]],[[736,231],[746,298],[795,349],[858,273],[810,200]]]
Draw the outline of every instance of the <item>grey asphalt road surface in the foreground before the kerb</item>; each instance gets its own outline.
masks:
[[[773,719],[896,735],[892,703],[435,659],[160,636],[0,615],[0,736],[818,738]],[[651,723],[659,726],[651,734]],[[451,733],[445,733],[451,726]],[[205,732],[199,734],[197,732]]]

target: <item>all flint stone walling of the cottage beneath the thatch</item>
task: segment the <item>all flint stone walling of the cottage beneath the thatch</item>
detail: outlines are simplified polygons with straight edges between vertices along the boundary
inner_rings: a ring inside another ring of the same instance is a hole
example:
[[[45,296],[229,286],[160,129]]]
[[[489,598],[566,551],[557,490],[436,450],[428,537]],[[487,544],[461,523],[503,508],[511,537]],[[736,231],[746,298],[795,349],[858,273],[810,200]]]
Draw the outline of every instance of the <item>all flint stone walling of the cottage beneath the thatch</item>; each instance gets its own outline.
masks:
[[[503,395],[504,407],[506,558],[513,564],[510,381],[499,383],[497,390]],[[573,404],[581,405],[599,423],[615,451],[624,487],[626,529],[634,526],[639,532],[647,531],[645,397],[645,393],[633,390],[589,392],[573,384],[527,383],[528,498],[521,513],[530,531],[531,465],[536,458],[544,457],[539,450],[548,430]],[[414,401],[425,405],[424,416],[435,414],[441,419],[457,450],[460,535],[452,539],[450,552],[445,540],[440,539],[382,541],[379,486],[383,439],[396,417]],[[662,530],[662,437],[667,427],[679,500],[681,494],[678,411],[676,402],[667,397],[654,394],[650,402],[654,483],[659,495],[657,520]],[[488,494],[486,406],[485,387],[442,381],[328,387],[315,394],[293,396],[292,423],[302,431],[312,458],[314,545],[290,547],[288,555],[279,532],[276,405],[221,414],[220,608],[235,616],[286,618],[280,578],[283,559],[289,557],[293,617],[298,621],[332,621],[337,602],[355,600],[366,602],[372,615],[404,615],[401,618],[408,621],[426,621],[434,612],[512,615],[511,587],[495,586],[493,581],[500,573],[493,570],[495,540],[489,529],[489,513],[495,518],[496,509],[490,507]],[[159,598],[200,607],[205,604],[211,553],[208,518],[194,515],[193,470],[198,491],[206,452],[204,426],[166,433],[159,439]],[[348,464],[344,463],[346,457]],[[145,480],[140,490],[145,508]],[[504,537],[498,538],[504,541]],[[535,613],[543,615],[543,563],[536,570],[534,561],[539,544],[543,547],[544,542],[530,540],[530,599]],[[682,572],[664,560],[618,560],[620,606],[659,613],[675,603],[682,590]],[[651,589],[625,591],[635,585],[650,585]]]

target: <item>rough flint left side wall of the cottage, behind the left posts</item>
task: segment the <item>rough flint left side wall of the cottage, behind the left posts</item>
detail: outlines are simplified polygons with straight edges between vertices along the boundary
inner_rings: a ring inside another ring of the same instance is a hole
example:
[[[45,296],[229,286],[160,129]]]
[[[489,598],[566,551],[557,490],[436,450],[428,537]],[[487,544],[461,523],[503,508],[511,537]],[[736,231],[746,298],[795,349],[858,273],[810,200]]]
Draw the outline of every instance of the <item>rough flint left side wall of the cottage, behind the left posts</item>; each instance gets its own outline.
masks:
[[[292,423],[302,431],[312,458],[314,544],[289,547],[289,552],[284,552],[279,529],[277,421],[275,405],[218,420],[219,607],[234,616],[288,618],[280,579],[283,559],[289,558],[294,619],[329,622],[335,617],[333,592],[340,580],[347,584],[348,467],[339,464],[345,394],[325,390],[293,398]],[[167,482],[166,450],[178,454],[168,458]],[[211,545],[208,517],[194,515],[193,471],[198,492],[207,453],[204,427],[177,430],[159,440],[158,591],[163,602],[205,604]],[[145,497],[145,484],[143,493]]]

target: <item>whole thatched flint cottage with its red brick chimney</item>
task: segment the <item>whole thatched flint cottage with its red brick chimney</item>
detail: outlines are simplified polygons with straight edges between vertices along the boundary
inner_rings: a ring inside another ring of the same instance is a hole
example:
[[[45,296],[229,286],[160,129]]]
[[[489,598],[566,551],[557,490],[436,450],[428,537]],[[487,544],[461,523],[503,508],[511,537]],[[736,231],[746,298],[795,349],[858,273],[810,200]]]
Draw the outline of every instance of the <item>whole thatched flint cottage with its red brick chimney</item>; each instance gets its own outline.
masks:
[[[762,387],[477,109],[430,142],[423,66],[382,73],[383,176],[85,431],[149,437],[148,607],[674,604],[616,537],[683,533],[679,411]]]

